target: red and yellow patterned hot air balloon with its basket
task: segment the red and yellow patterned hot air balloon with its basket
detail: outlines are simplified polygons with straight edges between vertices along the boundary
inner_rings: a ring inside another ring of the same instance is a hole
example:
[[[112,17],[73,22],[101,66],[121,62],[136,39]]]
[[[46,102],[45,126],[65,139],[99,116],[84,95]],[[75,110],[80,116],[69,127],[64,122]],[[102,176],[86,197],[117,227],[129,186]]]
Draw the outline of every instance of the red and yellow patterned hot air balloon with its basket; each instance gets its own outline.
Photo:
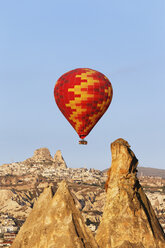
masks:
[[[102,73],[78,68],[63,74],[54,87],[57,106],[80,137],[80,144],[109,107],[113,89]]]

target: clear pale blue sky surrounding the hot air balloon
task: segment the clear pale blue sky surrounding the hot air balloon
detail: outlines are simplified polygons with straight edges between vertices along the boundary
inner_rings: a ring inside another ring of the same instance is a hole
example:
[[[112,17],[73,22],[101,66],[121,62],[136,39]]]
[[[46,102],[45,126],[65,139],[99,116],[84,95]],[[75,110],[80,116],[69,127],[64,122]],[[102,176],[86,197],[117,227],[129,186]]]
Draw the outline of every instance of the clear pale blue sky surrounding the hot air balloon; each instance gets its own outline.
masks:
[[[108,111],[79,137],[53,96],[66,71],[104,73]],[[0,164],[60,149],[69,167],[105,169],[126,139],[140,166],[165,168],[165,1],[0,1]]]

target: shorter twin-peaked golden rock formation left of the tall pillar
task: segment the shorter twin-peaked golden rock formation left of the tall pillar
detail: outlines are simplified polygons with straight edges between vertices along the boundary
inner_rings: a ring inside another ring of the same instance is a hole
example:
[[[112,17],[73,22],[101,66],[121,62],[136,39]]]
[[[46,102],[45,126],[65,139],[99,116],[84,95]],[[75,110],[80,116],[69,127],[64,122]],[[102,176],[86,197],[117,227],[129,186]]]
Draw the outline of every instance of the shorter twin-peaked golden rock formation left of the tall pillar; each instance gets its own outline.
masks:
[[[65,181],[53,196],[46,188],[20,229],[12,248],[98,248]]]

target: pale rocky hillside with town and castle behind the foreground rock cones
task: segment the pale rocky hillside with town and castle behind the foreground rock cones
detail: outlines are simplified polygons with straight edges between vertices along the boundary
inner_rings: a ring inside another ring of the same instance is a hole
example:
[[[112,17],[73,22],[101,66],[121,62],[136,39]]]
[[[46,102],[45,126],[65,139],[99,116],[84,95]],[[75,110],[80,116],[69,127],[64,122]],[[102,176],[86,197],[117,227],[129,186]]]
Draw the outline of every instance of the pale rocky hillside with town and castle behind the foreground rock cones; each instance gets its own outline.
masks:
[[[0,166],[0,247],[12,244],[44,188],[51,185],[55,193],[63,179],[85,224],[96,233],[106,200],[107,172],[67,168],[60,151],[53,158],[47,148],[40,148],[23,162]],[[140,174],[139,180],[165,229],[165,179]]]

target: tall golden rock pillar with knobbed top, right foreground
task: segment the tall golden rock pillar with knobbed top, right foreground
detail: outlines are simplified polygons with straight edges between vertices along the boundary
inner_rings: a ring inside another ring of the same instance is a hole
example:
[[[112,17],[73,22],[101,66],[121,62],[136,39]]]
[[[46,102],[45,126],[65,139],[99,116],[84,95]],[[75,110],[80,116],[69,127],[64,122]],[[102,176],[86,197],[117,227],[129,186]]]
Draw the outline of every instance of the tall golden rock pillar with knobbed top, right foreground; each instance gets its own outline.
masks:
[[[111,151],[99,247],[165,248],[165,234],[136,176],[137,158],[123,139],[113,142]]]

